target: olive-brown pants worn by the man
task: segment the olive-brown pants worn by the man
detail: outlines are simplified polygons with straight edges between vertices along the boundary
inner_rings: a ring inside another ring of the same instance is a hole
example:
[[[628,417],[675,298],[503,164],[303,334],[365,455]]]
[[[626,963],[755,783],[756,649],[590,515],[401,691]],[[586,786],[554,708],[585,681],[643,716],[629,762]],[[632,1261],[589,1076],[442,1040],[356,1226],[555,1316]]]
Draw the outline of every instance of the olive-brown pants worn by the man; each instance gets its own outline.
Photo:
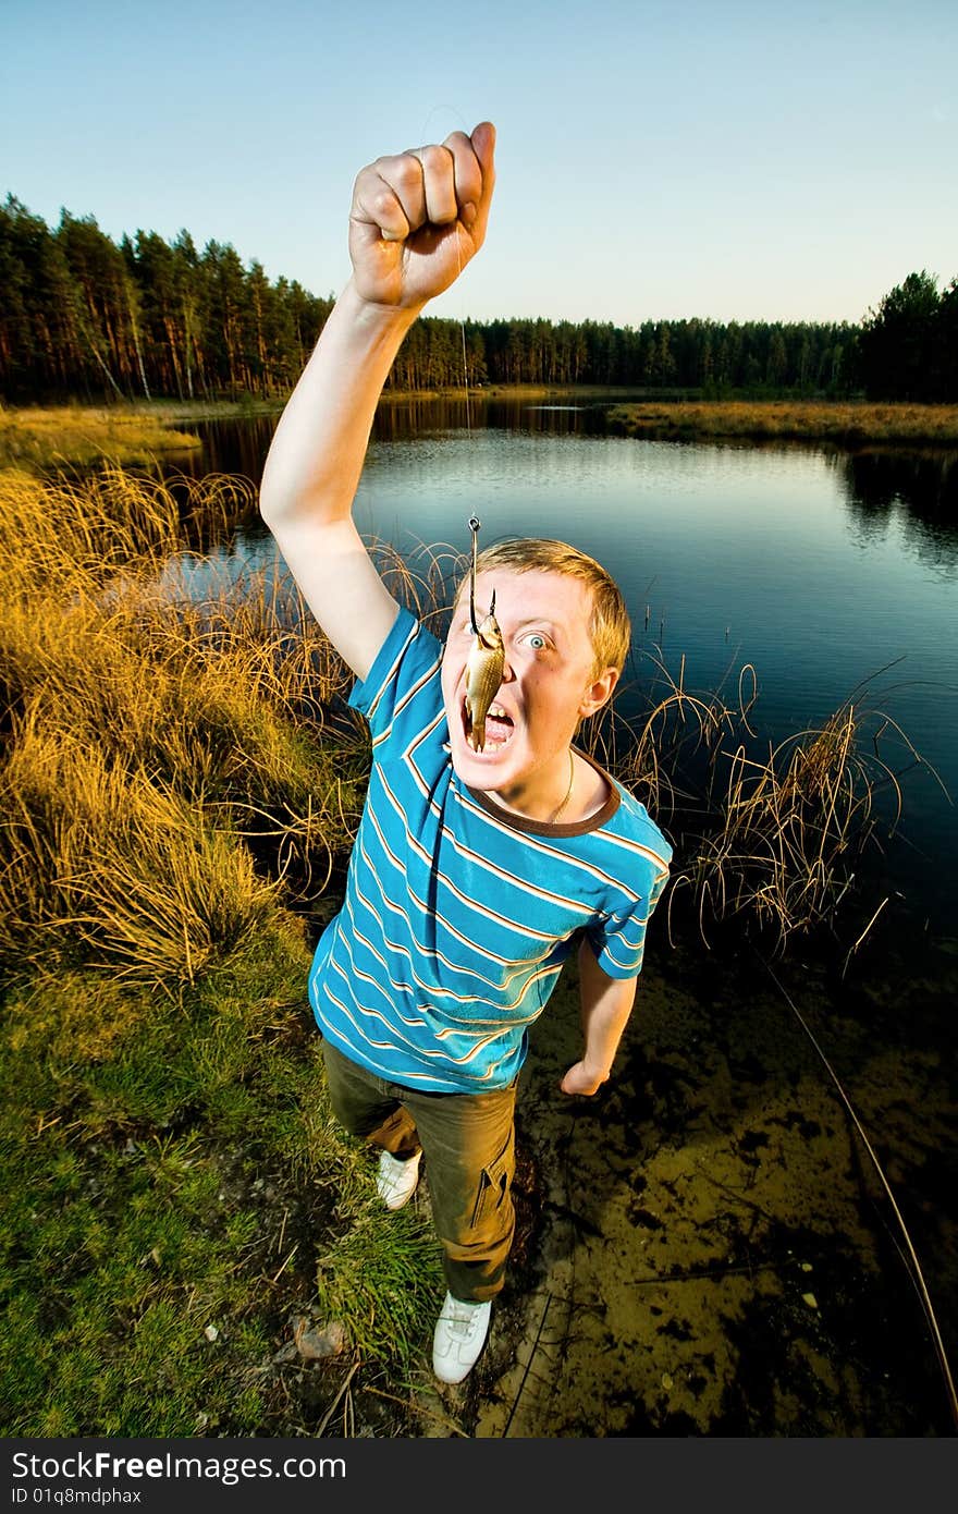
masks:
[[[493,1297],[516,1226],[515,1081],[492,1093],[424,1093],[377,1078],[327,1040],[322,1055],[333,1111],[350,1134],[400,1160],[422,1151],[453,1297]]]

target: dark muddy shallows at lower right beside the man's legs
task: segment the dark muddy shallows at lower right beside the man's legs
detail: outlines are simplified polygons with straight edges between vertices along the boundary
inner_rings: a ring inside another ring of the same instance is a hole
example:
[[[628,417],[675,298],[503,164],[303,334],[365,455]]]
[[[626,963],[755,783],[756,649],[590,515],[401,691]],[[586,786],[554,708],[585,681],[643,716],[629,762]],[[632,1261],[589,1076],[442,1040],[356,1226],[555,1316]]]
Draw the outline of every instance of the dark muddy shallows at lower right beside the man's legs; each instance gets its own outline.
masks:
[[[949,943],[840,978],[649,951],[613,1081],[575,1060],[569,972],[536,1025],[518,1116],[515,1263],[483,1358],[416,1396],[416,1434],[947,1437],[955,1422],[900,1226],[787,993],[891,1182],[953,1355],[955,1067],[929,1045]],[[781,992],[784,990],[784,993]],[[418,1202],[428,1202],[428,1192]],[[952,1369],[953,1370],[953,1369]]]

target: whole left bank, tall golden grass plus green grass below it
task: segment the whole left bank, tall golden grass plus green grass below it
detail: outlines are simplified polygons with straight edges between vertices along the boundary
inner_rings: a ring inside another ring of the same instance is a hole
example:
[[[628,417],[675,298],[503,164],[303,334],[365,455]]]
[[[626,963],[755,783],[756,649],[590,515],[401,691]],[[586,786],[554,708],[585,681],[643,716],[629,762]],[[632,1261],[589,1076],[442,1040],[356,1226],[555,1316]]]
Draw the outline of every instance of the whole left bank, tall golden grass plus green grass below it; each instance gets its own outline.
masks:
[[[168,565],[247,506],[0,475],[5,1434],[313,1434],[360,1361],[398,1434],[440,1296],[304,998],[368,766],[344,669],[268,574]]]

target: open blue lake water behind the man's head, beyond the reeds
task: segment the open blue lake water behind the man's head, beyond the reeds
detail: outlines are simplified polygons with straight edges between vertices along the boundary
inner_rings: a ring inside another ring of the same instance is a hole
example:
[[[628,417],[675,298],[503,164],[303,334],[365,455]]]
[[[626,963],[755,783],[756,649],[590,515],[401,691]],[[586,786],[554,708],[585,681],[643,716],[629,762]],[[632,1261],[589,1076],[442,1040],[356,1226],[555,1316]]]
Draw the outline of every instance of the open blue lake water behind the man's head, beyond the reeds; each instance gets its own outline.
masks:
[[[501,536],[558,536],[610,568],[634,659],[617,707],[648,698],[661,660],[686,686],[755,671],[751,724],[773,742],[846,699],[872,712],[866,754],[902,780],[887,889],[953,934],[958,881],[958,456],[849,454],[810,445],[637,441],[605,433],[602,406],[389,403],[360,481],[363,533],[413,565]],[[257,480],[272,422],[206,428],[204,468]],[[257,522],[216,554],[239,571],[272,556]],[[914,766],[910,742],[925,766]],[[937,774],[937,777],[935,777]]]

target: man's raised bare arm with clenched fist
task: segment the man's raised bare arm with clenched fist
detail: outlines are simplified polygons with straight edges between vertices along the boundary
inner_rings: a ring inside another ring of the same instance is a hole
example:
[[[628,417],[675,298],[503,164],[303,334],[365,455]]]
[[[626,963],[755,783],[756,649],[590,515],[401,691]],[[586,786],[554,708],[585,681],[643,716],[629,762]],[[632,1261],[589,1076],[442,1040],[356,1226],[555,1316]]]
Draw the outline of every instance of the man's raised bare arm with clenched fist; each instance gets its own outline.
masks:
[[[475,256],[495,185],[495,130],[380,157],[353,189],[353,274],[280,416],[260,513],[306,603],[357,678],[397,616],[353,522],[383,385],[410,326]]]

